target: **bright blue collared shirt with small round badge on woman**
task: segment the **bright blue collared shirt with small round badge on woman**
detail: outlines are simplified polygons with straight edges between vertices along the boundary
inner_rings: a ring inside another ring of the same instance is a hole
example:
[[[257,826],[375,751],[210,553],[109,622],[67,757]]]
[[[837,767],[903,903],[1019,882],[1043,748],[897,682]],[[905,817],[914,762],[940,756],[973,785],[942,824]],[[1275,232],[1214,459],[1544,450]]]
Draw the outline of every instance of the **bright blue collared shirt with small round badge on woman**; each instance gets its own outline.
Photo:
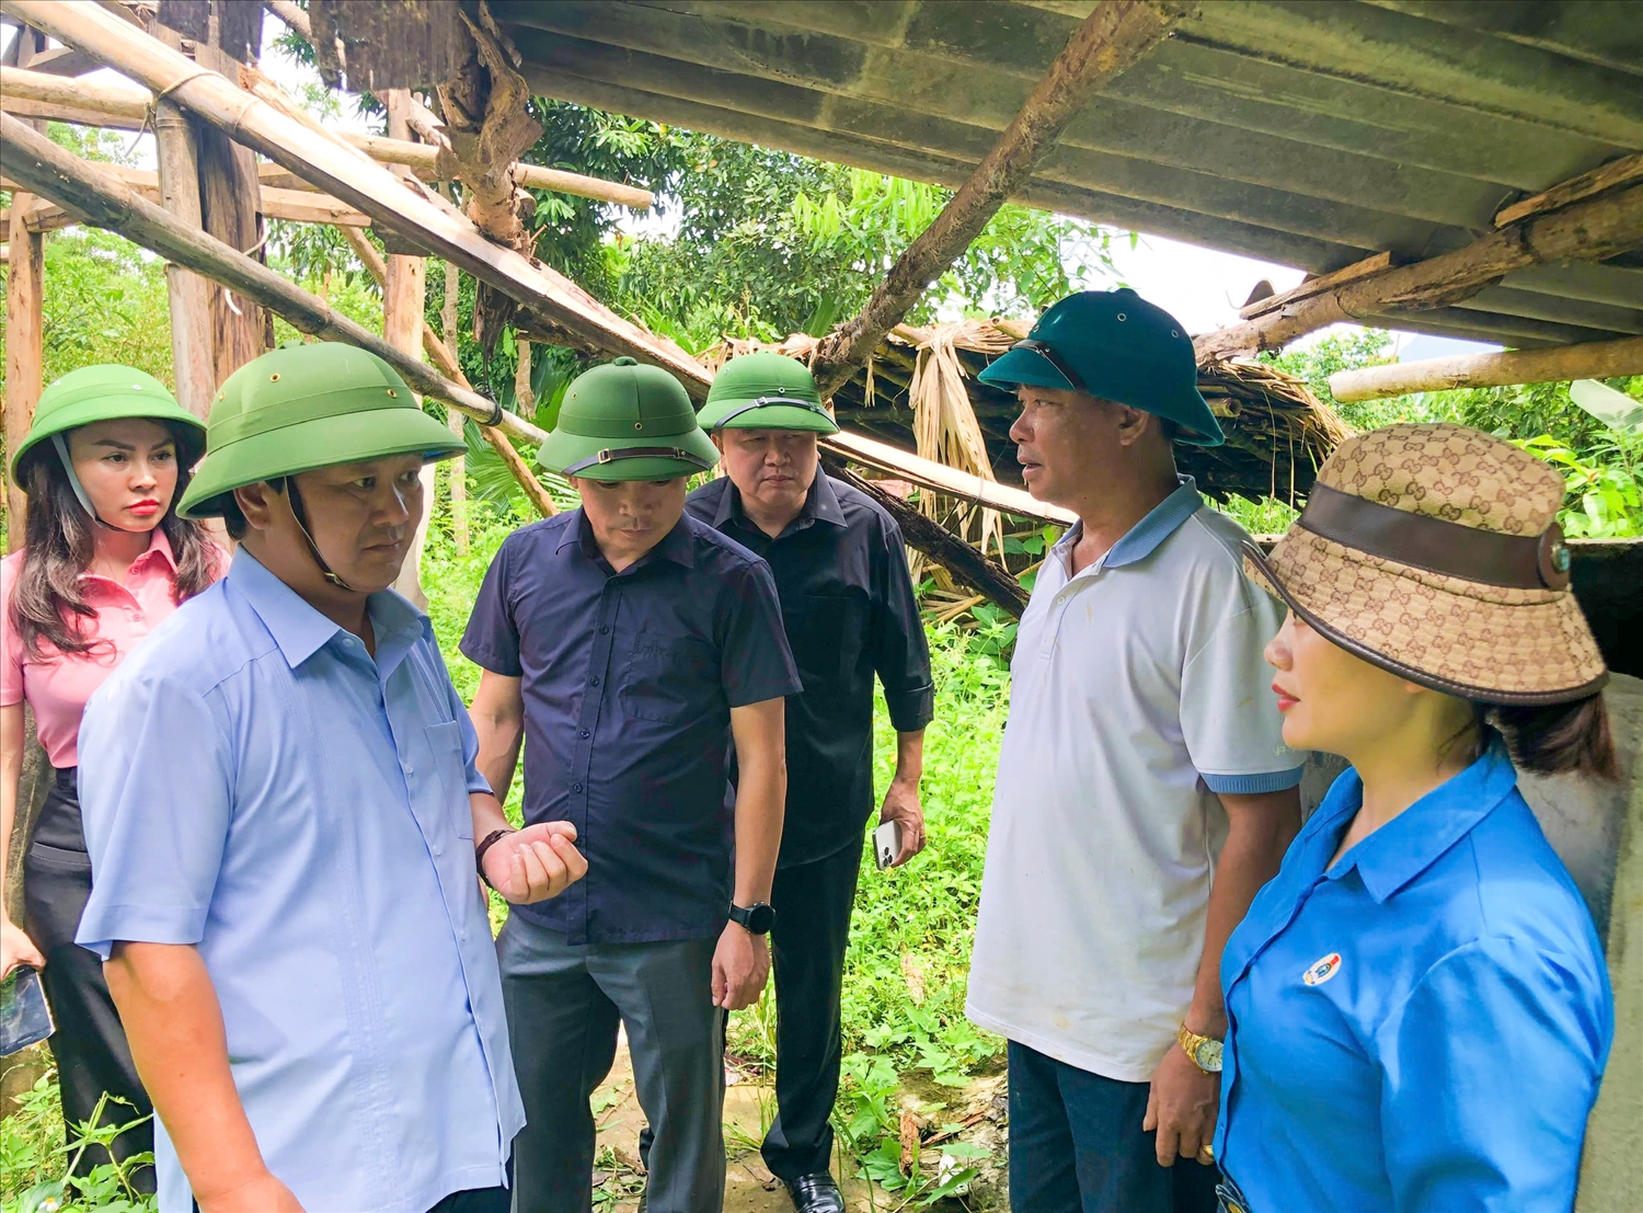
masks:
[[[1216,1159],[1250,1213],[1567,1213],[1613,1001],[1498,745],[1329,868],[1342,774],[1221,958]]]

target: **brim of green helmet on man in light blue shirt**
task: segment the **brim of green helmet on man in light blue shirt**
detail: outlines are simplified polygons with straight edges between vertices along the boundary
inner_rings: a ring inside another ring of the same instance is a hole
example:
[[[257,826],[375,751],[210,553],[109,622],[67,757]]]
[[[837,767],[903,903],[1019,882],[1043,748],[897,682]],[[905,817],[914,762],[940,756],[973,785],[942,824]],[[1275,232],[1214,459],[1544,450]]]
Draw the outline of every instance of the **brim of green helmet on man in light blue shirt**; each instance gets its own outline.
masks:
[[[424,460],[465,454],[467,442],[416,408],[315,417],[230,442],[205,455],[177,505],[184,518],[220,514],[235,488],[338,464],[394,455]]]

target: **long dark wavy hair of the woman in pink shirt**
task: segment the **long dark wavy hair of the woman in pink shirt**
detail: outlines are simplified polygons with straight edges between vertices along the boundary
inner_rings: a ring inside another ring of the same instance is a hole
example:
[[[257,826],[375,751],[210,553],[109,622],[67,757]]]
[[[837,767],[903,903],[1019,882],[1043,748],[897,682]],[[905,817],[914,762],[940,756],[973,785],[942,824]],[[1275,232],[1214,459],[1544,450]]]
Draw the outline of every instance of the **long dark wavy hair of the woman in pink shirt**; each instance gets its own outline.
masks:
[[[177,450],[182,449],[184,444],[179,442]],[[49,641],[59,653],[105,649],[108,643],[95,631],[97,610],[81,593],[81,574],[90,567],[97,551],[97,524],[81,508],[49,444],[43,442],[31,450],[18,472],[28,493],[28,526],[23,531],[23,565],[12,593],[12,623],[23,651],[41,661],[41,641]],[[177,603],[209,587],[217,579],[222,559],[205,528],[177,518],[176,505],[187,485],[189,470],[179,459],[177,488],[166,516],[159,519],[177,565],[171,593]]]

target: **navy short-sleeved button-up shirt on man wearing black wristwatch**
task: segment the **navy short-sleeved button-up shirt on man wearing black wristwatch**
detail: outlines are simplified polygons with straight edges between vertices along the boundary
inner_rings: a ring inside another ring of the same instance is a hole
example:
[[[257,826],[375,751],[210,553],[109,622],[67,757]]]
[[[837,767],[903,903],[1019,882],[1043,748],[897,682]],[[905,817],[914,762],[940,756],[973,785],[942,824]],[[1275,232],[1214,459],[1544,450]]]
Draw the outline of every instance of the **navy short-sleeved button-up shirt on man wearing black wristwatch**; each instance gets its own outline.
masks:
[[[729,710],[800,687],[764,560],[687,514],[618,574],[580,510],[547,518],[503,541],[462,651],[522,679],[526,822],[588,858],[514,912],[570,943],[723,930]]]

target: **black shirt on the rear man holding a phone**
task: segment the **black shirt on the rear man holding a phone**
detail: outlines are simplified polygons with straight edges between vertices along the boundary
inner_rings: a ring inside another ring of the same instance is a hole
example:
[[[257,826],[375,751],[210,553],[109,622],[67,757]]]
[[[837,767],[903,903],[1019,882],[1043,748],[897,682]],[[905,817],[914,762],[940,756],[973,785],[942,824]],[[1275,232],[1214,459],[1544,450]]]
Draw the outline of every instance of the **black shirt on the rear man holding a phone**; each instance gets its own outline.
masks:
[[[930,648],[902,531],[868,495],[817,472],[805,506],[771,539],[720,477],[685,513],[762,556],[775,574],[803,690],[787,697],[787,820],[780,866],[861,846],[872,814],[872,676],[891,723],[914,733],[935,713]]]

